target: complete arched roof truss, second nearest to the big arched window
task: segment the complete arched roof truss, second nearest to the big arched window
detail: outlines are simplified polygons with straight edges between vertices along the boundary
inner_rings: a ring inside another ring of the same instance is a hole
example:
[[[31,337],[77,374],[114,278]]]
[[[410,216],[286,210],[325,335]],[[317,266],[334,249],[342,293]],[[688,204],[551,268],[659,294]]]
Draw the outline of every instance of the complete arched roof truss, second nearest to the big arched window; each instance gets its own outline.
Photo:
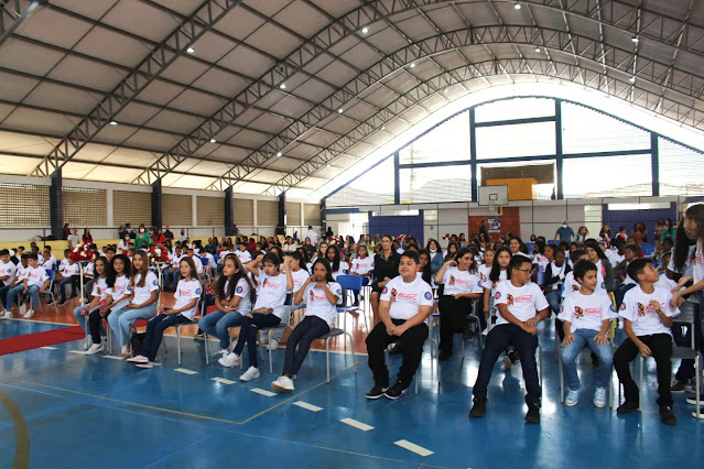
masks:
[[[510,31],[510,34],[509,34]],[[441,32],[435,36],[426,37],[423,41],[418,41],[407,46],[399,48],[392,54],[387,55],[381,61],[377,62],[359,76],[355,77],[343,86],[339,90],[328,96],[324,101],[349,101],[362,91],[369,89],[375,84],[380,83],[383,79],[389,78],[398,70],[404,68],[408,64],[419,62],[426,57],[432,57],[438,54],[444,54],[451,51],[457,51],[463,47],[472,45],[498,44],[498,43],[512,43],[517,45],[540,45],[545,47],[546,51],[554,51],[564,54],[568,54],[573,57],[574,64],[578,66],[580,59],[586,59],[588,62],[599,63],[600,66],[610,72],[622,73],[629,78],[632,69],[630,64],[626,61],[621,61],[621,57],[630,57],[631,51],[628,48],[619,48],[611,45],[607,45],[607,50],[602,52],[603,43],[602,39],[592,39],[581,36],[567,31],[562,30],[549,30],[544,28],[535,26],[483,26],[462,29],[450,32]],[[452,46],[448,46],[452,44]],[[518,48],[518,47],[517,47]],[[577,54],[572,51],[576,51]],[[592,57],[585,57],[582,54],[589,51]],[[616,57],[617,53],[621,57]],[[550,56],[550,55],[549,55]],[[607,56],[609,56],[607,58]],[[523,58],[523,57],[519,57]],[[495,61],[500,66],[501,61]],[[681,88],[681,81],[673,84],[667,79],[667,75],[657,72],[659,66],[662,70],[672,67],[676,69],[673,64],[657,62],[652,59],[646,59],[641,56],[640,62],[641,69],[638,70],[637,76],[640,80],[662,87],[661,94],[664,95],[665,90],[670,89],[683,95],[683,101],[691,99],[691,95],[695,89],[694,81],[691,83],[687,92]],[[679,70],[686,76],[691,76],[683,70]],[[700,81],[697,86],[704,86],[704,76],[698,76]],[[637,84],[640,86],[641,84]],[[685,103],[685,102],[683,102]],[[691,106],[691,105],[690,105]],[[329,107],[315,107],[301,118],[292,122],[288,128],[282,130],[273,139],[266,142],[256,152],[248,155],[242,162],[237,165],[232,165],[227,173],[218,178],[208,188],[214,190],[224,190],[227,186],[236,184],[246,178],[253,171],[262,167],[262,165],[269,161],[278,151],[285,149],[288,144],[299,139],[304,132],[314,127],[317,122],[327,118],[333,112]],[[397,113],[387,109],[385,110],[385,121],[391,120]]]

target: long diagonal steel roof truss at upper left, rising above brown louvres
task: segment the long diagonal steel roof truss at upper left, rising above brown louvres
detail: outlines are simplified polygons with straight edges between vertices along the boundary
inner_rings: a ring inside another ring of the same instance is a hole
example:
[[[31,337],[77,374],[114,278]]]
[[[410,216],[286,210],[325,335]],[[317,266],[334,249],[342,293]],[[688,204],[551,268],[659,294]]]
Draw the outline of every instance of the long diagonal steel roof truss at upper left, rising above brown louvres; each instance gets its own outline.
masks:
[[[186,48],[208,32],[242,0],[206,0],[162,41],[105,97],[36,166],[32,175],[48,176],[90,142]]]

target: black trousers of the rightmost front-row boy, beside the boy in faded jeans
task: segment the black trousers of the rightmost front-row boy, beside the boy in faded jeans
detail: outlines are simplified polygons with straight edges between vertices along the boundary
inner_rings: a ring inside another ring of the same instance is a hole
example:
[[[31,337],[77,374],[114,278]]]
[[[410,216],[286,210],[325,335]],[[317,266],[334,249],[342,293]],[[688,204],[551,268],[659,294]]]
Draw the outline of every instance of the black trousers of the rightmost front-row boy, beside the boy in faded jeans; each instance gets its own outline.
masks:
[[[650,348],[652,358],[656,360],[658,369],[658,405],[672,406],[672,392],[670,392],[670,374],[672,372],[672,337],[669,334],[653,334],[652,336],[638,336],[638,338]],[[628,364],[638,357],[639,351],[636,343],[629,338],[614,353],[614,369],[618,374],[618,380],[624,385],[626,401],[638,402],[638,384],[630,375]]]

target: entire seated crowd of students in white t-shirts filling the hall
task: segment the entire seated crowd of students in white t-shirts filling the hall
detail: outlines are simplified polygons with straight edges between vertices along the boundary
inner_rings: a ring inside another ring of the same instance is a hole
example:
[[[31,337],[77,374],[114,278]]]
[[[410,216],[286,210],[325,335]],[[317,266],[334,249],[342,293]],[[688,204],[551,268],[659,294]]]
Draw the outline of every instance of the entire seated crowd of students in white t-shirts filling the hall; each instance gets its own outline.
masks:
[[[535,360],[537,327],[554,315],[567,406],[577,404],[582,389],[576,358],[589,348],[598,368],[594,405],[606,405],[614,367],[625,392],[617,412],[637,410],[639,392],[629,362],[640,355],[653,357],[657,363],[662,422],[676,423],[672,393],[684,392],[695,372],[693,361],[683,360],[675,378],[671,378],[672,338],[686,346],[689,335],[694,334],[697,346],[703,343],[698,298],[704,290],[704,205],[686,210],[673,237],[672,223],[662,223],[652,258],[643,258],[639,246],[647,233],[631,233],[633,238],[629,238],[620,236],[624,230],[619,230],[611,237],[607,226],[596,239],[582,229],[574,242],[563,238],[564,230],[555,234],[561,238],[559,243],[535,237],[532,252],[516,236],[489,241],[486,231],[469,240],[453,234],[443,250],[434,239],[425,248],[410,236],[318,239],[308,228],[301,244],[291,237],[283,244],[278,237],[260,237],[259,241],[254,237],[236,237],[235,241],[224,237],[209,239],[206,244],[192,243],[183,233],[177,241],[173,236],[162,239],[156,230],[154,236],[142,237],[139,248],[144,249],[136,249],[140,233],[144,233],[140,229],[133,238],[126,230],[117,247],[98,251],[94,246],[97,258],[84,268],[90,279],[86,296],[91,299],[74,312],[91,337],[86,353],[105,350],[107,320],[128,361],[151,368],[164,331],[194,323],[205,306],[214,305],[215,312],[199,318],[198,335],[218,339],[218,362],[224,367],[239,364],[247,348],[249,367],[240,380],[250,381],[260,378],[260,331],[270,331],[267,347],[278,348],[292,312],[304,307],[289,336],[282,373],[271,383],[277,392],[291,392],[313,341],[331,331],[337,306],[347,296],[337,277],[359,275],[370,287],[373,315],[373,327],[366,338],[373,377],[373,386],[366,394],[369,400],[398,399],[407,393],[429,338],[431,313],[437,310],[441,361],[453,356],[456,334],[465,339],[486,334],[469,416],[486,414],[494,364],[503,355],[507,368],[521,362],[526,422],[539,423],[542,383]],[[562,228],[566,228],[566,220]],[[170,251],[171,261],[161,269],[161,284],[145,250],[154,247]],[[43,257],[37,250],[33,246],[29,253],[23,248],[0,251],[2,317],[11,317],[15,298],[24,295],[30,298],[30,309],[25,313],[21,307],[20,313],[32,317],[40,295],[51,284],[47,272],[56,272],[54,284],[61,304],[69,299],[67,285],[73,295],[80,294],[76,264],[71,260],[57,264],[51,249]],[[160,287],[174,291],[173,307],[158,309]],[[358,301],[355,297],[355,303]],[[693,312],[694,326],[687,327],[686,335],[680,327],[673,334],[672,318],[680,314],[684,302]],[[478,328],[470,327],[472,315],[479,319]],[[141,350],[134,355],[130,337],[137,319],[148,319],[148,325]],[[613,352],[615,319],[622,324],[626,339]],[[239,335],[232,343],[235,327],[239,327]],[[396,381],[390,379],[385,350],[402,353]]]

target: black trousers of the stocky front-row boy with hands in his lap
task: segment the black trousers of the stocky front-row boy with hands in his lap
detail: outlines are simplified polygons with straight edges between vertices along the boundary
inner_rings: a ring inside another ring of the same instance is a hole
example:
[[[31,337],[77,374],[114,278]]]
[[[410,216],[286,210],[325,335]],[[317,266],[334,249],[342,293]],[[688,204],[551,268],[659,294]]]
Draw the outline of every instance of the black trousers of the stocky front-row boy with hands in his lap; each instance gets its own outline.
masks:
[[[404,319],[391,319],[391,321],[397,326],[405,323]],[[413,381],[418,366],[421,364],[425,339],[427,339],[427,325],[425,323],[411,327],[400,337],[389,336],[383,323],[377,324],[367,336],[369,368],[373,373],[375,383],[382,388],[389,385],[389,369],[383,360],[383,350],[389,347],[389,343],[400,340],[403,362],[399,369],[398,380],[408,388]]]

